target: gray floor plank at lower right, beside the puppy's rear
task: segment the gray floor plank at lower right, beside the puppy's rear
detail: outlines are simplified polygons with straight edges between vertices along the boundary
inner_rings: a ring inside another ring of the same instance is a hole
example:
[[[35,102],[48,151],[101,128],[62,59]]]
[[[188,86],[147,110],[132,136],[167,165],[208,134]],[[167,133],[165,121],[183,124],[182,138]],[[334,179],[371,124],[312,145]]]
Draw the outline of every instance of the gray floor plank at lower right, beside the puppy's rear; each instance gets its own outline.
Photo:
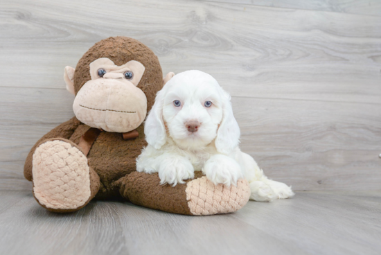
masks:
[[[311,192],[251,203],[233,217],[310,254],[380,254],[380,210],[380,193]]]

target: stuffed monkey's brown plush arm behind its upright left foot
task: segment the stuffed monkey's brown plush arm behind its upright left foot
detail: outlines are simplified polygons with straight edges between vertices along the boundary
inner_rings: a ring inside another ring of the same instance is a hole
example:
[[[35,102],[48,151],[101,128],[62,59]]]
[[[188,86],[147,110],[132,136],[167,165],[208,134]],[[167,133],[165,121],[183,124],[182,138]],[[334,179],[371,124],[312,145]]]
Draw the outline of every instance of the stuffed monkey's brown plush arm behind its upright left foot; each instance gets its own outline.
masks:
[[[33,153],[35,152],[35,149],[41,143],[42,141],[46,139],[51,138],[64,138],[69,139],[71,135],[76,131],[76,128],[78,128],[78,125],[80,125],[80,121],[76,117],[71,118],[69,121],[66,121],[60,125],[58,125],[56,128],[53,128],[50,132],[44,135],[41,139],[35,143],[35,146],[30,150],[28,157],[26,157],[25,165],[24,165],[24,177],[28,179],[28,181],[32,180],[32,161],[33,161]]]

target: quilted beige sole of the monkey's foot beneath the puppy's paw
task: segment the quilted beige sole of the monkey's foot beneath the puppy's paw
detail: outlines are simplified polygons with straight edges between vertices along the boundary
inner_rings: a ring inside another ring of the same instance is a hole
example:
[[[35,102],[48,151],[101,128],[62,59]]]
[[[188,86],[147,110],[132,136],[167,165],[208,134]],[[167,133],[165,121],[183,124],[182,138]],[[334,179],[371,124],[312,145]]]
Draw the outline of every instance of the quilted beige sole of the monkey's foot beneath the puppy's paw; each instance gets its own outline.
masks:
[[[208,178],[201,177],[186,184],[186,200],[193,215],[232,213],[241,209],[250,197],[246,179],[239,179],[237,186],[215,185]]]

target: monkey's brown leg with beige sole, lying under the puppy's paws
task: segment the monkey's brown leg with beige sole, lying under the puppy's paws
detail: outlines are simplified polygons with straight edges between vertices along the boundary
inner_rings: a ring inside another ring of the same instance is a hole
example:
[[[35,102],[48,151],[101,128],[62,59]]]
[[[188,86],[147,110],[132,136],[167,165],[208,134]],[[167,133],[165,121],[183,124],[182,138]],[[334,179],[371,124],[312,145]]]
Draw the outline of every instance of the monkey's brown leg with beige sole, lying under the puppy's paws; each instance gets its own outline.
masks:
[[[185,180],[176,186],[160,185],[157,173],[132,172],[118,180],[122,197],[133,204],[170,213],[193,216],[231,213],[249,201],[250,188],[246,179],[237,186],[215,185],[201,172],[195,179]]]

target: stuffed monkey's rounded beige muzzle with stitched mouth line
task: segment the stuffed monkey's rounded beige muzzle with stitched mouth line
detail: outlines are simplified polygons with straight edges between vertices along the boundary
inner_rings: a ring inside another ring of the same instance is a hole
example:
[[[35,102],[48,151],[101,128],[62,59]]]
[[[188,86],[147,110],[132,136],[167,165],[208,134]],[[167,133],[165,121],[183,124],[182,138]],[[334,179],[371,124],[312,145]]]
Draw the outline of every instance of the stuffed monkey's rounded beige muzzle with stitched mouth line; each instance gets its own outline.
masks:
[[[78,91],[73,111],[82,123],[107,132],[130,132],[147,115],[147,98],[131,82],[89,80]]]

